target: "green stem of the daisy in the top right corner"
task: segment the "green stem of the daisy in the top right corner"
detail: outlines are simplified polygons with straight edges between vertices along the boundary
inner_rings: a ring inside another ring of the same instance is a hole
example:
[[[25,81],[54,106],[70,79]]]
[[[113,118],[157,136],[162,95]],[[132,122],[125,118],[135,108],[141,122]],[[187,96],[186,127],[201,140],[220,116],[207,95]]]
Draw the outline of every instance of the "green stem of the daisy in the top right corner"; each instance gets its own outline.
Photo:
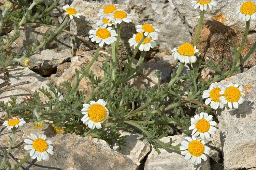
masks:
[[[245,39],[246,39],[246,37],[247,37],[248,31],[249,31],[249,28],[250,28],[250,21],[251,21],[251,19],[249,19],[248,21],[246,21],[245,31],[244,31],[244,34],[243,34],[244,37],[242,36],[241,45],[240,45],[239,50],[238,50],[238,52],[237,52],[236,58],[234,58],[233,65],[232,65],[232,67],[231,67],[231,69],[230,69],[230,72],[229,72],[229,74],[228,74],[227,77],[231,77],[231,75],[233,74],[234,70],[236,69],[237,61],[238,61],[239,56],[240,56],[240,54],[241,54],[241,52],[242,52],[242,49],[243,49],[243,47],[244,47]]]

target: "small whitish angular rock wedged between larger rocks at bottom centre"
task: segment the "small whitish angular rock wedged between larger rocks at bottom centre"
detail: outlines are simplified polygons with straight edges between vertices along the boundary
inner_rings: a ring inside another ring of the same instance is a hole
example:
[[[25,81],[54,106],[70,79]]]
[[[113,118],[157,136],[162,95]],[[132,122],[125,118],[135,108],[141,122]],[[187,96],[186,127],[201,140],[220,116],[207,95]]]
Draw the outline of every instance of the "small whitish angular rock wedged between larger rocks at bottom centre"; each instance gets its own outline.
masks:
[[[144,139],[143,141],[139,140],[142,135],[138,133],[131,133],[122,130],[119,130],[119,133],[121,134],[121,136],[126,137],[126,146],[123,146],[122,150],[119,151],[119,145],[115,142],[112,144],[113,150],[116,150],[117,152],[126,155],[139,166],[141,160],[150,151],[150,143],[146,139]]]

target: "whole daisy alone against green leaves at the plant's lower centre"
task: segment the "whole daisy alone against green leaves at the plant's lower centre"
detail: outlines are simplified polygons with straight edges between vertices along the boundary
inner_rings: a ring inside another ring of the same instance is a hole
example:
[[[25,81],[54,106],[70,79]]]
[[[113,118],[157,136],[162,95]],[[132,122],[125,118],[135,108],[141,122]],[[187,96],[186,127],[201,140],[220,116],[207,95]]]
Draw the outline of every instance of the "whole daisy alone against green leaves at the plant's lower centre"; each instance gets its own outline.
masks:
[[[88,128],[101,129],[101,123],[103,123],[109,116],[109,110],[105,107],[106,102],[99,99],[97,102],[90,101],[90,104],[83,104],[81,112],[85,114],[81,119]]]

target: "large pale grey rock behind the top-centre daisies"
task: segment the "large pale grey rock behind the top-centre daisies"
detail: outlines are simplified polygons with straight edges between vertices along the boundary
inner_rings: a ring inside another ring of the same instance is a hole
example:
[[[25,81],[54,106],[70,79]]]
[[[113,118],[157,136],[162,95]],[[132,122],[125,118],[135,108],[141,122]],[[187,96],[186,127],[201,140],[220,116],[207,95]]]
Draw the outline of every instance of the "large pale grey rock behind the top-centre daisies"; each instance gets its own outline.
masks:
[[[90,3],[91,2],[91,3]],[[77,10],[80,10],[82,14],[80,19],[75,18],[71,21],[71,31],[79,36],[82,36],[86,40],[88,38],[89,30],[96,27],[96,22],[99,19],[97,17],[98,11],[105,5],[114,4],[117,8],[122,8],[127,13],[133,15],[133,20],[130,23],[124,23],[122,25],[120,34],[120,45],[118,52],[122,54],[121,59],[125,60],[125,55],[128,53],[132,55],[134,51],[133,47],[130,47],[128,40],[133,34],[136,34],[135,26],[138,24],[152,24],[161,31],[159,33],[158,44],[160,52],[167,51],[170,53],[172,46],[178,46],[184,41],[190,40],[190,33],[183,22],[177,16],[177,11],[172,4],[172,1],[73,1]],[[102,5],[102,3],[105,3]],[[74,40],[73,47],[74,54],[77,55],[77,51],[86,51],[91,49],[87,44],[81,43],[80,40]],[[108,47],[108,46],[107,46]],[[157,49],[156,48],[156,49]],[[107,48],[106,48],[107,49]]]

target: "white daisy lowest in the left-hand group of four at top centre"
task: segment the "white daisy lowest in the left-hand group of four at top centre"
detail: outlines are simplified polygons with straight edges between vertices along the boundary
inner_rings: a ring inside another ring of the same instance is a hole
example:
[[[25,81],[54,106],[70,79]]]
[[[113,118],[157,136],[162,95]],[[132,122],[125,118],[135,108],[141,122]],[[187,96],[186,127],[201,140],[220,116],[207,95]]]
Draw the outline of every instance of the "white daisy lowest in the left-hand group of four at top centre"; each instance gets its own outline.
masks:
[[[117,40],[116,31],[112,30],[111,27],[95,27],[95,30],[90,30],[89,33],[92,34],[89,36],[89,38],[91,38],[91,41],[96,41],[96,43],[99,43],[100,47],[102,47],[104,43],[109,45]]]

